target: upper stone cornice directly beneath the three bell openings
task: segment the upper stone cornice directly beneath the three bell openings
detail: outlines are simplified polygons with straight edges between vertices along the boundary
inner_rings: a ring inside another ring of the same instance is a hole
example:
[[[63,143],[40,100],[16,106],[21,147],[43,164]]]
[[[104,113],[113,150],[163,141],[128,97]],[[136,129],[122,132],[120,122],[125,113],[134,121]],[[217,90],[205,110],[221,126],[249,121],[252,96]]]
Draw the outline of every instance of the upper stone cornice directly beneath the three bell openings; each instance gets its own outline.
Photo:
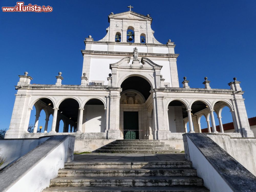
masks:
[[[127,43],[127,42],[113,42],[113,41],[86,41],[84,40],[84,44],[100,44],[100,45],[136,45],[136,46],[152,46],[152,47],[175,47],[176,45],[167,45],[167,44],[153,44],[153,43]]]

